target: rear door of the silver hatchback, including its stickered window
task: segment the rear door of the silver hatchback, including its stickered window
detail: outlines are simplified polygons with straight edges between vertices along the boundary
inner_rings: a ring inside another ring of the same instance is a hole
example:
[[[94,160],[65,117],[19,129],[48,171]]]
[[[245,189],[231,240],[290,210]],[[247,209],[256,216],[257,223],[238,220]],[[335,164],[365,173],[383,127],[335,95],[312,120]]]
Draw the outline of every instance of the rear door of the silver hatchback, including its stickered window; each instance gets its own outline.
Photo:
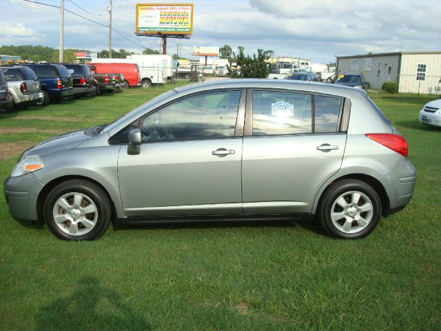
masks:
[[[243,141],[245,214],[311,212],[345,152],[343,98],[249,90]]]

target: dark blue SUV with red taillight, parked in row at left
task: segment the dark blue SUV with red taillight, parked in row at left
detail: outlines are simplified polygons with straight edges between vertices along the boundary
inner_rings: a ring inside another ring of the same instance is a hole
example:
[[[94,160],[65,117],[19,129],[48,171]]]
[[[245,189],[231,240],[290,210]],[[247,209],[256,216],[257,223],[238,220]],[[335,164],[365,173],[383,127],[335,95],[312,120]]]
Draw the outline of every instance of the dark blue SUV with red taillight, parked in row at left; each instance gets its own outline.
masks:
[[[47,105],[52,101],[73,99],[75,92],[72,87],[72,76],[65,66],[57,63],[26,63],[23,66],[31,68],[39,78],[43,99],[37,104]]]

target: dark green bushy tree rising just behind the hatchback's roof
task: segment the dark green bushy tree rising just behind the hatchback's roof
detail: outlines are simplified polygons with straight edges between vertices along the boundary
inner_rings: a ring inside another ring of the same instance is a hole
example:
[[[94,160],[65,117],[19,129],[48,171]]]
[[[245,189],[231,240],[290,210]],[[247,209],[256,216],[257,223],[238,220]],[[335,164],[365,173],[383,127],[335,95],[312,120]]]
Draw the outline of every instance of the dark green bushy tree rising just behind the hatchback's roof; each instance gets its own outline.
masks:
[[[233,69],[232,66],[227,66],[228,69],[228,77],[231,78],[267,78],[269,74],[268,59],[269,57],[265,56],[263,50],[257,50],[256,54],[253,54],[252,57],[249,55],[245,56],[244,48],[242,46],[238,47],[238,54],[234,54],[237,63],[237,69]],[[238,70],[240,68],[240,71]]]

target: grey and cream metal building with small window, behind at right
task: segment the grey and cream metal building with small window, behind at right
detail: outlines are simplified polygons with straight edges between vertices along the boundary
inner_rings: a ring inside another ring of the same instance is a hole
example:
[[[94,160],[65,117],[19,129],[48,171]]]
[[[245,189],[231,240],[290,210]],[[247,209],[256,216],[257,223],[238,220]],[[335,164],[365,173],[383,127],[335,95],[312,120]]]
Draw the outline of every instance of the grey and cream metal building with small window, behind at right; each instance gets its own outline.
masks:
[[[361,72],[369,88],[385,81],[398,83],[398,92],[439,94],[441,51],[393,52],[337,57],[338,72]]]

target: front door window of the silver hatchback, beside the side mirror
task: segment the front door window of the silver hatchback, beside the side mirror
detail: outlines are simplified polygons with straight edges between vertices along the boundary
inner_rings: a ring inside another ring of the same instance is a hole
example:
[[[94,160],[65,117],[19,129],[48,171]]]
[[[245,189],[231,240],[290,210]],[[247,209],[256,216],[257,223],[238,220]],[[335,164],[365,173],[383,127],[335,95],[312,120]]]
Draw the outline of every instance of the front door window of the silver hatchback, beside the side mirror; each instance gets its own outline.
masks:
[[[197,94],[143,120],[143,141],[233,137],[240,91]]]

